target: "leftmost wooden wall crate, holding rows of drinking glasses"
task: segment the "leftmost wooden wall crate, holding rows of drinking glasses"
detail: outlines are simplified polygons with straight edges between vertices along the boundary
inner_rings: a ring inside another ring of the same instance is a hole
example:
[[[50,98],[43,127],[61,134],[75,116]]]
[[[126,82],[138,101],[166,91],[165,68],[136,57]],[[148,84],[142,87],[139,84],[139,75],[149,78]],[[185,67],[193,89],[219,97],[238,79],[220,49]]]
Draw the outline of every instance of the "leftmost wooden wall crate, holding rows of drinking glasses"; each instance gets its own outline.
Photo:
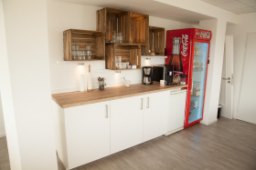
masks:
[[[91,59],[86,59],[88,61],[105,59],[105,33],[101,31],[69,29],[63,32],[63,42],[65,61],[76,61],[72,57],[71,45],[80,45],[81,50],[85,50],[86,45],[91,45]]]

